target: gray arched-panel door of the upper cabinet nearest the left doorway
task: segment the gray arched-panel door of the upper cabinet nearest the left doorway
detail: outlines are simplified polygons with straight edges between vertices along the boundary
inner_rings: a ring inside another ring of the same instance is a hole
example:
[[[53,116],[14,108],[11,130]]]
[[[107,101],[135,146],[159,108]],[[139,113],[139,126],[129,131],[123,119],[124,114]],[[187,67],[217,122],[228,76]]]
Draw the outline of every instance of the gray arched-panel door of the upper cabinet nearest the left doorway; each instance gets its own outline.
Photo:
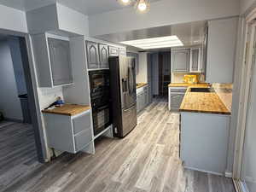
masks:
[[[53,85],[73,83],[69,42],[48,38],[48,44]]]

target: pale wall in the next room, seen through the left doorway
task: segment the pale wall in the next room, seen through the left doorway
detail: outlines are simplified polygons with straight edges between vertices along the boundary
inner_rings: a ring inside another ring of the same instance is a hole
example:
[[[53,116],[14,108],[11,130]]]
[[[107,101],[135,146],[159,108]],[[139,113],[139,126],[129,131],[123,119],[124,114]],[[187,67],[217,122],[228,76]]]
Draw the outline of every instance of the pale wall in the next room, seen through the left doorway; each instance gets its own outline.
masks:
[[[0,41],[0,111],[8,119],[22,120],[13,61],[7,41]]]

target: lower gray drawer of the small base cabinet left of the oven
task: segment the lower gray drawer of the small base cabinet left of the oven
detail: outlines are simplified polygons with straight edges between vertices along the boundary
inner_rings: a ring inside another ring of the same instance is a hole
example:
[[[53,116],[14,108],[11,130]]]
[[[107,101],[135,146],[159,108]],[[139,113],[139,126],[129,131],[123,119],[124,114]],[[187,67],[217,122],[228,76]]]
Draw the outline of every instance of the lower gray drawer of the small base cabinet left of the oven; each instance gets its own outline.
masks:
[[[90,129],[81,131],[79,135],[74,137],[76,151],[83,149],[92,142],[92,132]]]

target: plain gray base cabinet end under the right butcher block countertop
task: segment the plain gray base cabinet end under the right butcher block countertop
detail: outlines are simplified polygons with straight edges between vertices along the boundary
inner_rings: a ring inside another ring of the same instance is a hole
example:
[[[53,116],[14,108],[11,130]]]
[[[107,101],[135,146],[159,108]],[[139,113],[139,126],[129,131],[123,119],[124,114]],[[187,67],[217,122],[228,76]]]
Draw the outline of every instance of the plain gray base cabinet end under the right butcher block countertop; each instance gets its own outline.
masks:
[[[181,113],[180,155],[186,168],[224,175],[230,115]]]

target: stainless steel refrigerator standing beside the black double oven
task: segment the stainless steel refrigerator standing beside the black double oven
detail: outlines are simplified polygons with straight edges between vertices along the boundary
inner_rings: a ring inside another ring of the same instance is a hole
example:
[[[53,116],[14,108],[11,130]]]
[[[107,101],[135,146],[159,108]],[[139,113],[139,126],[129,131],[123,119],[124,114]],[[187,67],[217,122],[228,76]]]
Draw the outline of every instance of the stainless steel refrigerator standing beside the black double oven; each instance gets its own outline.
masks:
[[[113,135],[125,137],[137,125],[135,59],[109,57]]]

